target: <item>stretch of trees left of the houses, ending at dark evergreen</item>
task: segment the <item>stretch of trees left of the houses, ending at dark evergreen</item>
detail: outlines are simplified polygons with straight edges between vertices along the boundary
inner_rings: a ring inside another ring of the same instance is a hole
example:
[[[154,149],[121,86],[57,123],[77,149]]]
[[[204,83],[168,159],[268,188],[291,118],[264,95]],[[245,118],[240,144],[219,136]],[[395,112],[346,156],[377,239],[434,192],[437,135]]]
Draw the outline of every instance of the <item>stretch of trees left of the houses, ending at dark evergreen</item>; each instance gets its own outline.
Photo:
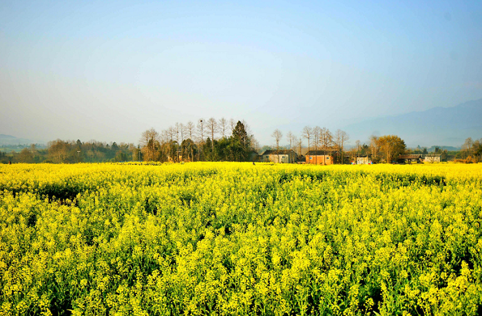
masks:
[[[259,147],[247,122],[198,120],[176,123],[160,133],[151,128],[142,133],[138,146],[56,139],[48,148],[23,148],[20,153],[0,151],[0,163],[77,163],[121,161],[246,161]]]

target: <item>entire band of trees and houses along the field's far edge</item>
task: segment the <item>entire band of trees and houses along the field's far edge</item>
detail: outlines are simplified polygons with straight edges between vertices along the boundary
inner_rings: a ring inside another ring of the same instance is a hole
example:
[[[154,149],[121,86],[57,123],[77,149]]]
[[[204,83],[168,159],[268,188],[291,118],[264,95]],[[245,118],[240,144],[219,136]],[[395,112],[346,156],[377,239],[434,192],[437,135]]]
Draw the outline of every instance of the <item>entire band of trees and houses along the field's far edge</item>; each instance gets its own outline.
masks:
[[[368,144],[356,140],[348,146],[350,136],[341,130],[305,126],[300,136],[288,132],[286,137],[276,129],[273,146],[260,147],[244,121],[199,120],[197,124],[176,123],[158,133],[151,128],[140,137],[139,144],[65,141],[56,139],[47,146],[1,146],[0,163],[79,163],[158,161],[181,163],[191,161],[252,161],[271,163],[332,164],[373,163],[440,163],[482,161],[482,139],[468,137],[460,148],[407,148],[397,135],[372,135]],[[285,139],[285,146],[280,143]],[[307,145],[307,146],[306,146]]]

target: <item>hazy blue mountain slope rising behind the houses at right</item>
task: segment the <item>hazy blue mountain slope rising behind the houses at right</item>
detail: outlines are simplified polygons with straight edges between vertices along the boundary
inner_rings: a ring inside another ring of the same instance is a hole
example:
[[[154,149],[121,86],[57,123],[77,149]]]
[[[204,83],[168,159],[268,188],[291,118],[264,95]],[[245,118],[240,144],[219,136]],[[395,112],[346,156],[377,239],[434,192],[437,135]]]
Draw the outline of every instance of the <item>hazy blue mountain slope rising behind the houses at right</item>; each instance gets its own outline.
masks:
[[[345,126],[352,142],[367,142],[370,135],[398,135],[408,147],[460,147],[467,137],[482,137],[482,99],[426,111],[378,117]]]

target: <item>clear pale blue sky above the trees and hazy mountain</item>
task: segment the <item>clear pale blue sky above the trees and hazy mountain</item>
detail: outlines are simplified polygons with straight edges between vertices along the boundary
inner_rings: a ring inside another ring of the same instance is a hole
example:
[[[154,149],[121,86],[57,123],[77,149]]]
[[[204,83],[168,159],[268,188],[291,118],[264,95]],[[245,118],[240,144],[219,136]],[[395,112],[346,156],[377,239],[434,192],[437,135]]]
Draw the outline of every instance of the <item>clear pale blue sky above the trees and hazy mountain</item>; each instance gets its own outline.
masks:
[[[137,144],[225,117],[269,145],[482,98],[481,52],[481,1],[3,0],[0,133]]]

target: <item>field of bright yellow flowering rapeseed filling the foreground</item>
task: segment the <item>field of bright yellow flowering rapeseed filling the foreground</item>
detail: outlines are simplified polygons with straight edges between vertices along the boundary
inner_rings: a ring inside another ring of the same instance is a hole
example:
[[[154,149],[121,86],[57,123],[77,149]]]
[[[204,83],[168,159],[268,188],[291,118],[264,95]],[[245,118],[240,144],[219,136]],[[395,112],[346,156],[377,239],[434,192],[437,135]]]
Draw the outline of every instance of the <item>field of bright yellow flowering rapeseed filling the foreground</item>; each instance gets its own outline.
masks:
[[[0,166],[0,315],[480,315],[482,164]]]

